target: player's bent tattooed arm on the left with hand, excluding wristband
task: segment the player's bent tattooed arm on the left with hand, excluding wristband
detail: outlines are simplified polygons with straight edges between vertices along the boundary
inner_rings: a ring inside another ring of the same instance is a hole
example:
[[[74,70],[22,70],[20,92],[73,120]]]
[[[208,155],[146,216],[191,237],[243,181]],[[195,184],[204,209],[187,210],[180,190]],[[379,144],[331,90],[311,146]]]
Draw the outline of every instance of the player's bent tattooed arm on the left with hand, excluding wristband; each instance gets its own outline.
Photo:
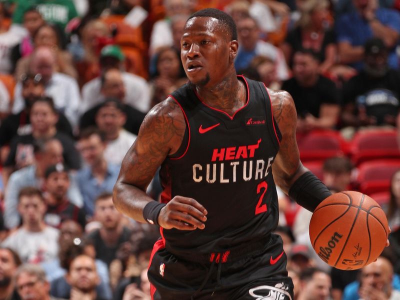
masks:
[[[170,97],[148,112],[135,142],[122,160],[113,189],[113,201],[118,210],[145,222],[143,208],[153,200],[145,190],[165,157],[179,148],[185,126],[180,107]],[[158,223],[164,228],[204,228],[205,214],[206,210],[196,200],[175,196],[161,209]]]

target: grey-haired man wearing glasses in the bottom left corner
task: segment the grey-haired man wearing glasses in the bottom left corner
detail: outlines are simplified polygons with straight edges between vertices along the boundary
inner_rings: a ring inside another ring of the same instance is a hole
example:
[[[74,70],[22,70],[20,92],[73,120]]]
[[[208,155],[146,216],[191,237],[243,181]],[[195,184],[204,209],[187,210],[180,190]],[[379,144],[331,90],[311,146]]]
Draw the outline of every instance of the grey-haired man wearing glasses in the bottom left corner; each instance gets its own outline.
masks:
[[[62,300],[49,295],[50,285],[44,271],[38,265],[21,265],[14,278],[21,300]]]

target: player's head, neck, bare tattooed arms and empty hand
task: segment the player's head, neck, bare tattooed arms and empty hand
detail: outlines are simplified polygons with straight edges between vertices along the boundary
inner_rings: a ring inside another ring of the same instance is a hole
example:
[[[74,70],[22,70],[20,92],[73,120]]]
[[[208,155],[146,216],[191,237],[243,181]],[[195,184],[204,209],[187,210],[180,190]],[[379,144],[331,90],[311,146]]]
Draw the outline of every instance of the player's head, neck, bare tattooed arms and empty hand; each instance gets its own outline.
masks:
[[[229,115],[245,104],[246,89],[236,77],[233,61],[238,43],[212,17],[193,17],[186,22],[181,38],[181,60],[186,75],[204,102]],[[272,164],[273,177],[284,192],[307,169],[302,166],[295,139],[296,110],[285,91],[268,89],[273,116],[282,134],[279,152]],[[153,199],[147,185],[167,155],[175,153],[183,139],[186,123],[179,105],[171,98],[155,105],[146,115],[138,136],[122,161],[113,190],[118,210],[145,222],[143,207]],[[181,230],[203,229],[206,207],[195,199],[174,196],[160,211],[159,225]]]

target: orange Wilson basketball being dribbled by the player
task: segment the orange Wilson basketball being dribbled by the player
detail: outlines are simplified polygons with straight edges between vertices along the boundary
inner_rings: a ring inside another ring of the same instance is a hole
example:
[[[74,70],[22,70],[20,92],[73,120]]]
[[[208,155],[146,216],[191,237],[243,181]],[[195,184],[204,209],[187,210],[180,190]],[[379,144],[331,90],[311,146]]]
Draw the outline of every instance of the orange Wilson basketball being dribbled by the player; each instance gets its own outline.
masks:
[[[315,208],[309,237],[318,256],[342,270],[354,270],[374,261],[389,232],[386,215],[371,197],[342,191]]]

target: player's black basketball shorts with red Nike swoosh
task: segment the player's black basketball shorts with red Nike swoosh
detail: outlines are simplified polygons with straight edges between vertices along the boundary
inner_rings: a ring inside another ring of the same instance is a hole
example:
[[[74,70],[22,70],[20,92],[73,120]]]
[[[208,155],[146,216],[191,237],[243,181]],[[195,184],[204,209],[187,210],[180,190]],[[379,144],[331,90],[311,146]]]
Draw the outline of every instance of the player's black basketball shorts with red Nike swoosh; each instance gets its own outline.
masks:
[[[158,240],[151,253],[148,279],[153,300],[292,300],[286,254],[279,235],[238,249],[192,257],[176,257]],[[253,244],[253,245],[254,245]],[[251,250],[249,250],[251,249]],[[243,251],[244,250],[244,251]]]

